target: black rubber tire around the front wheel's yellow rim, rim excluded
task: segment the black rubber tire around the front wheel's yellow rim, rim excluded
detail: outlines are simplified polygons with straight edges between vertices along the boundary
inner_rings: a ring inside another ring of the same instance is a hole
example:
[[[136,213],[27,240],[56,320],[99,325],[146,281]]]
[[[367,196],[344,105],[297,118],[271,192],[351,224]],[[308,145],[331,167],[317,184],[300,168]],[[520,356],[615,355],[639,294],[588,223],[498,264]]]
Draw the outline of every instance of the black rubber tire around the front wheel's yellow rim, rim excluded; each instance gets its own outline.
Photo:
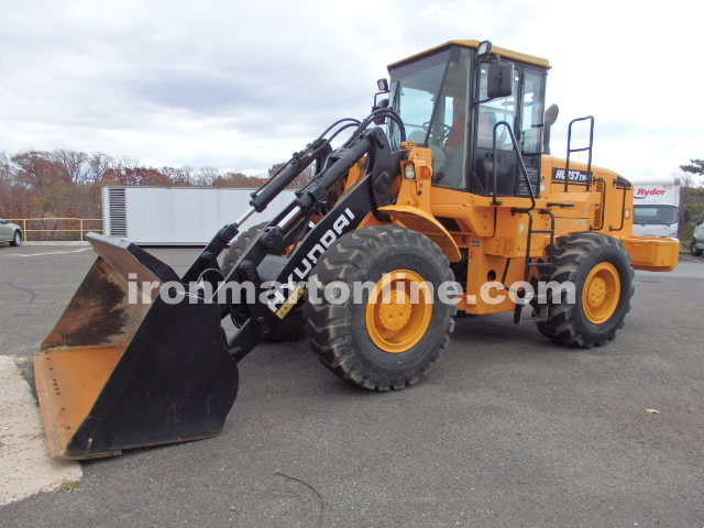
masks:
[[[395,270],[410,270],[433,285],[430,326],[421,340],[406,352],[388,353],[370,338],[362,302],[352,299],[330,304],[326,285],[342,282],[353,290],[355,282],[376,283]],[[333,243],[311,271],[319,282],[320,302],[306,302],[304,317],[310,344],[333,374],[371,391],[400,389],[414,385],[440,356],[454,329],[457,305],[441,302],[438,286],[454,280],[448,258],[430,239],[396,226],[374,226],[352,231]]]

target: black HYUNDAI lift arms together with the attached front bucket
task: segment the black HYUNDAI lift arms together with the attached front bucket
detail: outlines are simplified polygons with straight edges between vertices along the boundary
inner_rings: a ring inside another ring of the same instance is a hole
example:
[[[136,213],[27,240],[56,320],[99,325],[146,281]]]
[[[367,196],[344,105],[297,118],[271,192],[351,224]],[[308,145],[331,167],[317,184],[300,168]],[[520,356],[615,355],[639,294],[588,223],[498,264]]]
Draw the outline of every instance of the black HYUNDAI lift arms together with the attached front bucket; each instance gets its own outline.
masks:
[[[224,287],[233,280],[253,280],[260,287],[271,279],[302,280],[326,243],[389,204],[397,160],[406,152],[393,154],[384,132],[370,128],[381,116],[402,124],[386,109],[361,122],[338,121],[295,154],[252,194],[250,209],[218,231],[183,277],[132,243],[88,234],[98,258],[34,356],[52,455],[109,457],[123,449],[220,432],[239,388],[238,361],[282,321],[292,300],[271,289],[267,302],[257,302],[257,295],[251,305],[219,305],[213,300],[220,298],[208,298],[205,283]],[[355,130],[350,139],[333,151],[331,140],[351,127]],[[334,205],[328,204],[330,189],[365,156],[366,173]],[[218,255],[242,222],[264,210],[314,162],[312,180],[224,276]],[[309,226],[318,212],[324,212],[322,219]],[[294,243],[296,249],[280,256],[282,249]],[[145,289],[145,285],[152,286]],[[174,287],[182,297],[170,302],[162,294]],[[302,290],[295,288],[297,301]],[[228,316],[239,327],[230,342],[221,326]]]

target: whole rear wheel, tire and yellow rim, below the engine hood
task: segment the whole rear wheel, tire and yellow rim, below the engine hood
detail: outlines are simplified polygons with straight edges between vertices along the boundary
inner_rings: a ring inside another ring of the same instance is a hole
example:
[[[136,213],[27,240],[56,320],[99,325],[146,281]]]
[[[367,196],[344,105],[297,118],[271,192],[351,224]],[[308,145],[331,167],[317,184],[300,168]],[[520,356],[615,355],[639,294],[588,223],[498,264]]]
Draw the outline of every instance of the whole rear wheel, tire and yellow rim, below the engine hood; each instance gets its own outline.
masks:
[[[556,343],[585,349],[613,340],[624,327],[634,295],[634,268],[622,242],[602,233],[574,233],[560,237],[548,252],[552,272],[541,280],[572,282],[575,302],[568,304],[566,292],[560,299],[548,298],[549,318],[538,323],[540,333]],[[544,311],[544,306],[540,308]]]

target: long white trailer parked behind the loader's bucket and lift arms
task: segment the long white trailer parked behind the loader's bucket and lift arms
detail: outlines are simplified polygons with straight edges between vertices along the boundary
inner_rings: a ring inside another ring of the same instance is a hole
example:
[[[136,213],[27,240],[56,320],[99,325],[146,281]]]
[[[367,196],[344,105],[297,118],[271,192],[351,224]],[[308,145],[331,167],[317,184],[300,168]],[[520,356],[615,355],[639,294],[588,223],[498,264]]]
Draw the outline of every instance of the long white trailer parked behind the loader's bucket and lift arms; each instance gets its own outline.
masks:
[[[249,208],[253,190],[108,185],[102,187],[105,233],[140,245],[205,245]],[[293,198],[294,191],[285,190],[242,229],[271,220]]]

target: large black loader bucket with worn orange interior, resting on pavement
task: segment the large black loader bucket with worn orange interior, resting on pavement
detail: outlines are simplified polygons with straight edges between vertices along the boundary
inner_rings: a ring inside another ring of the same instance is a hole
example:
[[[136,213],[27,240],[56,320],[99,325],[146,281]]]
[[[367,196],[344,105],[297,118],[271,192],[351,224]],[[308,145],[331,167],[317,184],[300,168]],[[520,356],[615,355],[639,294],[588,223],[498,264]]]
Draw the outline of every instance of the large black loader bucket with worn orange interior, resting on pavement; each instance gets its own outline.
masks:
[[[160,288],[179,280],[169,266],[129,242],[88,238],[98,258],[34,355],[52,455],[218,435],[239,383],[220,307],[188,296],[167,302]]]

